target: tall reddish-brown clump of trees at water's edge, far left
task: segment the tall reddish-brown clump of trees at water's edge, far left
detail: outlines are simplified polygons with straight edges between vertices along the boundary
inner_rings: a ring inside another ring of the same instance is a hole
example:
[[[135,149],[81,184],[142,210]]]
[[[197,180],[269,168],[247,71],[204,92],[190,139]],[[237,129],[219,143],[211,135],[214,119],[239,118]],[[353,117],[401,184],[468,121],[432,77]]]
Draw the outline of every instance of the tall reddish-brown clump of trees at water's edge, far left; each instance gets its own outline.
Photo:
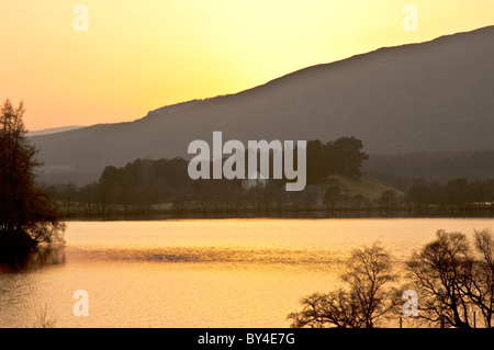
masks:
[[[7,100],[0,114],[0,248],[31,249],[63,240],[61,216],[35,182],[37,150],[29,144],[23,102]],[[2,249],[5,250],[5,249]]]

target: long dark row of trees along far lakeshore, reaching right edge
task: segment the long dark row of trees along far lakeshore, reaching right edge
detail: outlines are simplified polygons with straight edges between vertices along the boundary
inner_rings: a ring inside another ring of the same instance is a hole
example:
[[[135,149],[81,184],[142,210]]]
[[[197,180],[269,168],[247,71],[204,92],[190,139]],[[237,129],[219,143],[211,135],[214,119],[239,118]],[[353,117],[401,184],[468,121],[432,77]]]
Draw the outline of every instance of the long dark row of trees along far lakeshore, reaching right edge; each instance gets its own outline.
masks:
[[[311,158],[308,158],[311,159]],[[307,162],[310,163],[307,159]],[[67,217],[153,213],[325,212],[338,215],[492,215],[494,180],[457,179],[446,184],[418,184],[407,193],[383,190],[379,196],[347,193],[337,179],[315,177],[301,192],[284,191],[284,180],[270,180],[248,190],[240,180],[195,180],[187,160],[137,159],[124,167],[106,167],[98,182],[45,187]],[[340,174],[338,172],[328,172]],[[319,179],[314,181],[314,179]],[[353,176],[358,179],[359,176]],[[323,180],[324,179],[324,180]]]

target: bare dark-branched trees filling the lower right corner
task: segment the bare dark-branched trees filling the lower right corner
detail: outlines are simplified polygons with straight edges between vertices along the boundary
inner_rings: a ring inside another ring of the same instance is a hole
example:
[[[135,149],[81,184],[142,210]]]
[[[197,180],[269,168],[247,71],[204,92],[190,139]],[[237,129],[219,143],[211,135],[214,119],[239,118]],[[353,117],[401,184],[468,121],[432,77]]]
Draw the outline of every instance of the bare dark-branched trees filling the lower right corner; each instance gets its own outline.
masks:
[[[462,233],[438,230],[436,239],[407,262],[414,287],[420,295],[419,318],[444,326],[470,328],[473,313],[481,312],[492,326],[494,304],[493,237],[475,233],[475,250]]]

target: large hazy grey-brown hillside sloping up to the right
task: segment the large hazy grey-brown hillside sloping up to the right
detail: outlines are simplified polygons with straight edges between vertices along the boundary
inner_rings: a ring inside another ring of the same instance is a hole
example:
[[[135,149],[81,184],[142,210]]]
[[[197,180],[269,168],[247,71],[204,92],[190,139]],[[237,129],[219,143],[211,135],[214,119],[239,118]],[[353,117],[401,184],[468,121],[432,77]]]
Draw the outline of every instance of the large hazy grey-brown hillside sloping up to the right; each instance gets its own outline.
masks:
[[[362,139],[369,154],[494,149],[494,26],[308,67],[130,123],[33,136],[46,173],[187,157],[194,139]]]

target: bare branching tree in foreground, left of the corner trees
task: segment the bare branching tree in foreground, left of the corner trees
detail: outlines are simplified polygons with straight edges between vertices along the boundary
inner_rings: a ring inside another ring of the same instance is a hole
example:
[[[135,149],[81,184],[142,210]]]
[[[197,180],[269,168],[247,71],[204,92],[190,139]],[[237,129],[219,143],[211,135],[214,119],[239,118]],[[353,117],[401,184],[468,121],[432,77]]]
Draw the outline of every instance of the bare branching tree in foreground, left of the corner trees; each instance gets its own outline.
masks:
[[[327,294],[314,293],[302,300],[303,309],[291,313],[291,327],[373,328],[396,306],[395,279],[390,255],[380,245],[353,250],[340,275],[348,285]]]

